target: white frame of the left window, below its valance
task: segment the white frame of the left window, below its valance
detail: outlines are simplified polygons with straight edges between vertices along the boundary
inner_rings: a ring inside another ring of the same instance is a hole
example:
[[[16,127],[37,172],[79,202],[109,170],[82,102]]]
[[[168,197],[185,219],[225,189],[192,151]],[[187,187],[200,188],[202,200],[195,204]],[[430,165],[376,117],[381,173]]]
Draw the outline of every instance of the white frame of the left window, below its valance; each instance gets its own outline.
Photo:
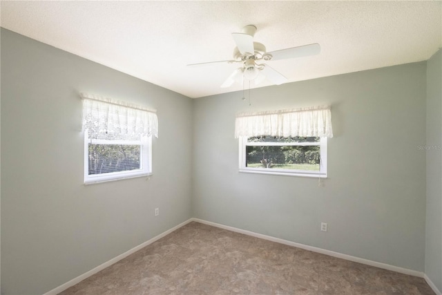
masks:
[[[123,144],[140,146],[140,169],[89,175],[89,144]],[[96,140],[84,132],[84,184],[124,180],[152,175],[152,135],[140,140]]]

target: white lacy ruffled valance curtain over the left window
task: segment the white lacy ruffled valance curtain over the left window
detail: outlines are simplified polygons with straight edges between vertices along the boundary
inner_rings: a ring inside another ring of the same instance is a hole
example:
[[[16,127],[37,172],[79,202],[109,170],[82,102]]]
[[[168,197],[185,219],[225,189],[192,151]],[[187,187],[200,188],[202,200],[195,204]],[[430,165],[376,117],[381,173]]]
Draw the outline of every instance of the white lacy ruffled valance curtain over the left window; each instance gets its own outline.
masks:
[[[81,93],[81,98],[83,130],[88,131],[89,138],[140,140],[144,136],[158,137],[156,111],[99,95]]]

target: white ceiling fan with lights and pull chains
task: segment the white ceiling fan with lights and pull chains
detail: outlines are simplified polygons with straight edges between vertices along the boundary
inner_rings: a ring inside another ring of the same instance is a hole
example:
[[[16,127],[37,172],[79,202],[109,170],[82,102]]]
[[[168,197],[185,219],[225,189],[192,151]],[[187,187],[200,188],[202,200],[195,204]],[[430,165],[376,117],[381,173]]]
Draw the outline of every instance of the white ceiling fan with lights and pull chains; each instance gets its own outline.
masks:
[[[244,26],[242,32],[232,33],[236,48],[233,50],[233,59],[231,60],[210,61],[199,64],[189,64],[188,66],[215,63],[240,64],[240,67],[236,68],[236,70],[227,77],[226,81],[221,85],[222,88],[227,88],[234,82],[241,82],[244,79],[254,80],[255,84],[259,84],[268,78],[273,84],[280,85],[286,82],[287,78],[271,68],[268,64],[262,63],[262,61],[306,57],[320,53],[320,45],[317,43],[267,53],[264,44],[253,41],[255,33],[256,26],[253,25]]]

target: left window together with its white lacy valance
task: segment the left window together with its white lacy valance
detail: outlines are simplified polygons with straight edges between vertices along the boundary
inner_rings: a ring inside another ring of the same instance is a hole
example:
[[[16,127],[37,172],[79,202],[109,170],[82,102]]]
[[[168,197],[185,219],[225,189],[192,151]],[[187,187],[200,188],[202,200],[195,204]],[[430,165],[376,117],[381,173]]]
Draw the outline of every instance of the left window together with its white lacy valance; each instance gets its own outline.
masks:
[[[150,175],[155,111],[84,95],[84,183]]]

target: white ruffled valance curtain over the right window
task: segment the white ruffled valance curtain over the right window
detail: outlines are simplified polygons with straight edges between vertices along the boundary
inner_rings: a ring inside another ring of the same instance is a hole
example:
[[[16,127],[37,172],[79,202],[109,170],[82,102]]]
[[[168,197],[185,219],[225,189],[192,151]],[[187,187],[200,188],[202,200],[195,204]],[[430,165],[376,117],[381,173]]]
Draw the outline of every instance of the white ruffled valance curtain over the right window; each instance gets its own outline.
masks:
[[[294,110],[240,113],[236,116],[235,137],[333,137],[330,106]]]

